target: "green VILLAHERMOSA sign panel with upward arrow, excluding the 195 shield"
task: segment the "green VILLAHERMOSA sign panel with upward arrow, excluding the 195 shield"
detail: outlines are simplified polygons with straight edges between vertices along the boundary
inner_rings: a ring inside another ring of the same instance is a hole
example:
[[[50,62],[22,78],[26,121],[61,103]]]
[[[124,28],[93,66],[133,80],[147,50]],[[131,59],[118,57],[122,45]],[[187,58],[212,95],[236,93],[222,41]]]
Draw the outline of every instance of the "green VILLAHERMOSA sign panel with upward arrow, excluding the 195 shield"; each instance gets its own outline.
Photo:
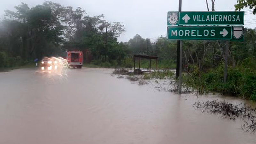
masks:
[[[244,12],[179,12],[179,25],[244,25]]]

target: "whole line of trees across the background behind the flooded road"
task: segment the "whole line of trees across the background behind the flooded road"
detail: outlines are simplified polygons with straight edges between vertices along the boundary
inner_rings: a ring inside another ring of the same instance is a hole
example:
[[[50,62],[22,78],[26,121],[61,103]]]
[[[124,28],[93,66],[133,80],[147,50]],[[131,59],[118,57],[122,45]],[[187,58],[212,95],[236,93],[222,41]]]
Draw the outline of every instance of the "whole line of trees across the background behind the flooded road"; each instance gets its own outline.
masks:
[[[125,32],[120,22],[108,22],[104,16],[89,16],[82,8],[73,9],[46,1],[29,8],[21,3],[16,11],[5,10],[0,21],[0,67],[12,67],[41,59],[63,56],[66,50],[84,51],[84,62],[105,67],[132,67],[132,54],[159,57],[160,68],[176,63],[176,41],[159,37],[154,42],[135,35],[128,42],[118,42]],[[244,42],[230,42],[228,63],[235,66],[256,55],[256,30],[245,28]],[[183,67],[195,65],[207,71],[224,57],[224,41],[184,41]],[[147,61],[142,66],[147,67]]]

